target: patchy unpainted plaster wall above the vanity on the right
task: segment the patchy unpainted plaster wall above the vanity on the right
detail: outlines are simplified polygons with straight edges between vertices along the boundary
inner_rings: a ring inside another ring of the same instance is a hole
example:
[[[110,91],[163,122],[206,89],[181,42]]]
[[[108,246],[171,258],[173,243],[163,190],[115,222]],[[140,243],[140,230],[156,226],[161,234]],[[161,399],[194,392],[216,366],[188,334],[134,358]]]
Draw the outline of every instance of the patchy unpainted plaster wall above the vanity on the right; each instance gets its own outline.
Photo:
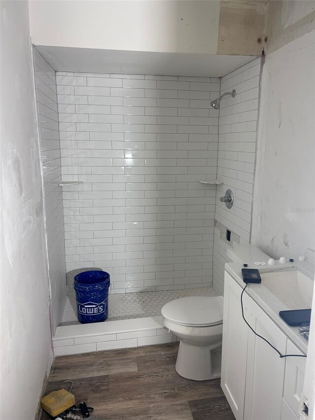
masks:
[[[314,45],[315,31],[269,54],[262,72],[252,241],[274,258],[315,249]]]

